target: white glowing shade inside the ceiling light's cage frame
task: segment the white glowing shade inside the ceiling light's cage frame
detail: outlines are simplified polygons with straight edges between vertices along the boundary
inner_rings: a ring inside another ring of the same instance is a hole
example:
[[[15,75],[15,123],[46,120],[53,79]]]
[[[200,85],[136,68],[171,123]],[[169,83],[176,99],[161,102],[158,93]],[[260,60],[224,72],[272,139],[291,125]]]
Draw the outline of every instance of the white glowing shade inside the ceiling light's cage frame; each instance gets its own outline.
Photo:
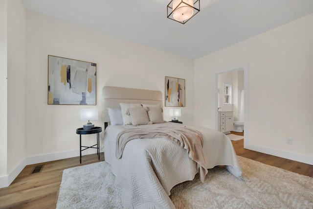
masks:
[[[173,0],[173,18],[177,21],[188,20],[194,14],[193,0]]]

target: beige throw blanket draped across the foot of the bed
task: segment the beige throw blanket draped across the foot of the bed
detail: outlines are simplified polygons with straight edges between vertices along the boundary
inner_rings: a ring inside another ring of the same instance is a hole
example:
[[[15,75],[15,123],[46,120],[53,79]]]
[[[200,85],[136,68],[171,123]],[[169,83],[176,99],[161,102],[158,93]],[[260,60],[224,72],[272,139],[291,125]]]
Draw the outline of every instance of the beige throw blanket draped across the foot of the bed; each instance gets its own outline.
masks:
[[[207,169],[203,155],[203,139],[199,131],[186,127],[158,127],[131,129],[121,132],[116,138],[116,158],[120,159],[126,143],[132,139],[165,138],[187,150],[189,158],[197,163],[201,182],[204,181]]]

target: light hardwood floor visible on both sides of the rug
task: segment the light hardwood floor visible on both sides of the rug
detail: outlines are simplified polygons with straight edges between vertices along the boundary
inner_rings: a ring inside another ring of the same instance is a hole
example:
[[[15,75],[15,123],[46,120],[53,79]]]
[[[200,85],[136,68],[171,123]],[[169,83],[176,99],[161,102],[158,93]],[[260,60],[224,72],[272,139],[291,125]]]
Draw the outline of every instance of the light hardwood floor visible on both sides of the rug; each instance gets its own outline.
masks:
[[[243,133],[232,132],[243,135]],[[232,141],[236,154],[261,163],[280,167],[313,177],[313,165],[299,163],[271,155],[244,149],[244,140]],[[100,153],[100,161],[104,160]],[[6,188],[0,188],[0,209],[55,209],[64,169],[99,162],[97,155],[68,158],[59,161],[27,165]],[[30,174],[34,166],[44,164],[40,173]]]

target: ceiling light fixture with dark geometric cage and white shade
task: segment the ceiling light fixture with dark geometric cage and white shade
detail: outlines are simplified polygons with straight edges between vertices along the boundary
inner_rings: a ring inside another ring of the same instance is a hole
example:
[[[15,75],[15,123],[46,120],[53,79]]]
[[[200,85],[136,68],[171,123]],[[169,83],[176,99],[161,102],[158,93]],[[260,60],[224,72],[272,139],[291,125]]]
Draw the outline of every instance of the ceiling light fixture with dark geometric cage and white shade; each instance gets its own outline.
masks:
[[[171,0],[167,5],[167,18],[187,23],[200,11],[200,0]]]

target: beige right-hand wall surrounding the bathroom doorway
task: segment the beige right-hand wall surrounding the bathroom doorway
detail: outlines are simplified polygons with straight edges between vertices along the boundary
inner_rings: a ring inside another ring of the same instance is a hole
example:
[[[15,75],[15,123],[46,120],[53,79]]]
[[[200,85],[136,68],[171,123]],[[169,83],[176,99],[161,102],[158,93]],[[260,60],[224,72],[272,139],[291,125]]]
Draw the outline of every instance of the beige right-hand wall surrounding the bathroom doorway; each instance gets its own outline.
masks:
[[[248,63],[245,147],[313,164],[312,23],[313,14],[196,60],[195,125],[215,128],[215,74]]]

